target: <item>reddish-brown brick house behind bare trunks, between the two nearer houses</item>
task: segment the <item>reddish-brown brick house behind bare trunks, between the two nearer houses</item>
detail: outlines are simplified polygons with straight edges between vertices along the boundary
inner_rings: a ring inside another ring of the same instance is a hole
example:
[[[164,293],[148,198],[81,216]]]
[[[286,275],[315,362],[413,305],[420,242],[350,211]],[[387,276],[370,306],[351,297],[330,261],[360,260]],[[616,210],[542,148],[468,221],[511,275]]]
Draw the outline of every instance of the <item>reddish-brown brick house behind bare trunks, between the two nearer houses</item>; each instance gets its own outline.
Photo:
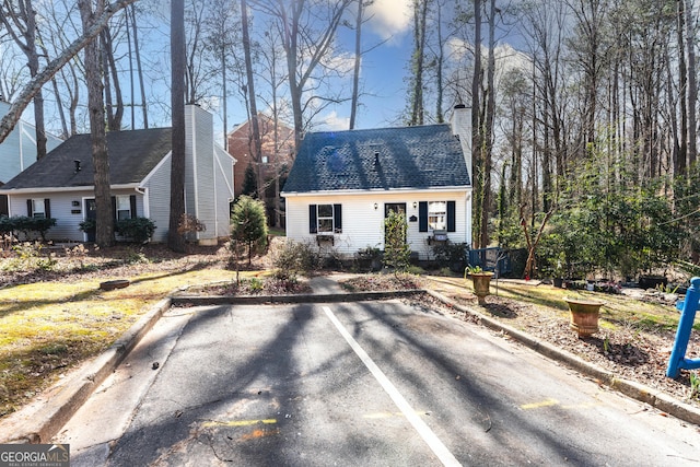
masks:
[[[258,113],[258,127],[261,142],[261,176],[262,183],[267,185],[265,203],[267,215],[270,221],[276,217],[275,208],[279,194],[276,186],[282,186],[284,178],[294,162],[294,129],[278,120],[277,132],[275,131],[275,120]],[[238,125],[228,135],[229,153],[235,157],[234,185],[235,195],[238,197],[244,189],[245,172],[252,166],[257,174],[257,164],[250,156],[253,145],[253,126],[250,120]],[[276,184],[276,179],[279,185]],[[273,223],[275,224],[275,223]]]

